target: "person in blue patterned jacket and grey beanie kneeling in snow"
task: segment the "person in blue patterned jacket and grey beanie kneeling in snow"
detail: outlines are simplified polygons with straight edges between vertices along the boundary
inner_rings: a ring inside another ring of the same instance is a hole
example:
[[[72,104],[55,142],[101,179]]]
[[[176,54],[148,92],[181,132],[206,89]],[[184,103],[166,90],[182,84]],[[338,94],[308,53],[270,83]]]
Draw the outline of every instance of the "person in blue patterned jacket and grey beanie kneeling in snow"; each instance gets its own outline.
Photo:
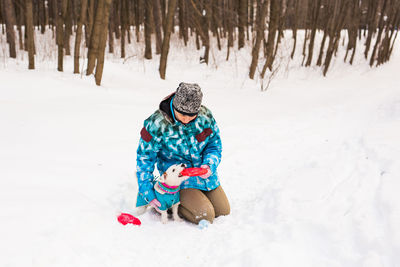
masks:
[[[176,92],[161,101],[159,109],[144,121],[137,150],[139,192],[136,206],[160,207],[154,192],[153,171],[173,164],[202,167],[208,172],[182,183],[179,214],[193,223],[230,213],[229,201],[218,180],[221,138],[211,111],[201,105],[203,93],[197,84],[180,83]]]

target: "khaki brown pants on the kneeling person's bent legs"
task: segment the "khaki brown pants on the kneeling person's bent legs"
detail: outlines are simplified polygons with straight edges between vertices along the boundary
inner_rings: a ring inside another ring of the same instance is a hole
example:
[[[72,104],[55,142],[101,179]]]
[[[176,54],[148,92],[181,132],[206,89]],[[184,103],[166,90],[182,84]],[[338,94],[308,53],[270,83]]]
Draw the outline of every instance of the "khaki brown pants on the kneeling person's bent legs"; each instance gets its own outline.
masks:
[[[192,223],[205,219],[213,222],[215,217],[228,215],[230,205],[221,186],[211,191],[186,188],[180,191],[179,214]]]

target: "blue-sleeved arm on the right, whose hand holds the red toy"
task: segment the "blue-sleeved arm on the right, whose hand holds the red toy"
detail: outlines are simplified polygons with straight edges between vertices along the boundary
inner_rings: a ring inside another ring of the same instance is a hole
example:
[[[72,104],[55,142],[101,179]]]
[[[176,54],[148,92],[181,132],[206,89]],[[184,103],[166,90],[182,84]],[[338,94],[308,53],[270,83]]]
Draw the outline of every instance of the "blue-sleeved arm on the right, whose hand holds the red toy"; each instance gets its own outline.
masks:
[[[211,125],[212,133],[208,139],[207,145],[203,150],[203,163],[202,165],[208,165],[212,173],[217,170],[219,163],[221,162],[222,144],[221,137],[219,134],[219,128],[214,118],[212,118]]]

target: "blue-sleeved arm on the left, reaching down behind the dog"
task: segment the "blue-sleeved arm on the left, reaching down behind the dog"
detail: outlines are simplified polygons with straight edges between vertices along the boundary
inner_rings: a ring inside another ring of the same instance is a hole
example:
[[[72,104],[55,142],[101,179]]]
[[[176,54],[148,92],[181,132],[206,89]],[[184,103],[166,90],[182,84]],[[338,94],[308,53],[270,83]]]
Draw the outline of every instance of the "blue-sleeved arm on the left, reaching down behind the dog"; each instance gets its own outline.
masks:
[[[138,179],[139,194],[147,203],[150,203],[156,198],[152,181],[154,179],[153,171],[157,161],[157,153],[160,147],[157,137],[154,134],[151,135],[146,127],[149,129],[149,125],[145,123],[140,132],[136,158],[136,176]]]

